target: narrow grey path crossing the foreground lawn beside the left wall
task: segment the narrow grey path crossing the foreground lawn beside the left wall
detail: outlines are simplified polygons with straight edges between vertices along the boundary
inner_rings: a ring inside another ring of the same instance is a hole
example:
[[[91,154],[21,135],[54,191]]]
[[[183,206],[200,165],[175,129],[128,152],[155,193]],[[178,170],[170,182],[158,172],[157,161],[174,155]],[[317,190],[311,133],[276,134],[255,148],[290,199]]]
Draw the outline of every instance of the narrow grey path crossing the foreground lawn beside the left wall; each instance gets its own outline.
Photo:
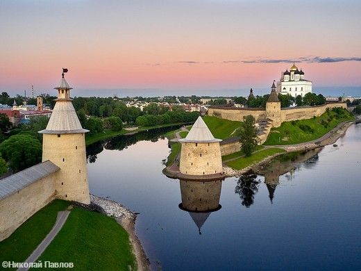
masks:
[[[48,233],[47,237],[42,240],[42,243],[37,246],[37,248],[33,251],[33,253],[24,261],[24,263],[34,263],[37,258],[39,258],[44,250],[48,247],[51,241],[55,238],[58,234],[62,226],[64,226],[65,222],[67,221],[67,217],[69,216],[69,211],[62,211],[58,212],[58,217],[56,217],[56,222],[53,226],[53,229]],[[18,270],[26,271],[29,268],[19,268]]]

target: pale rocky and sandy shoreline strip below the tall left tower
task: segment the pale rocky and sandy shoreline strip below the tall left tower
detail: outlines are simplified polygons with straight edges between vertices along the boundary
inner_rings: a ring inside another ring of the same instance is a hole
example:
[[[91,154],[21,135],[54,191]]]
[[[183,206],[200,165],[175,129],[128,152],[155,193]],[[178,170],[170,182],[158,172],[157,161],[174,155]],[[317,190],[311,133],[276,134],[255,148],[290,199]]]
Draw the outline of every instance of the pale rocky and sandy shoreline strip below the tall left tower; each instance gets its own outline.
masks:
[[[90,201],[93,204],[100,206],[106,215],[115,217],[115,220],[123,227],[129,235],[129,240],[133,247],[133,254],[137,261],[137,270],[150,270],[149,260],[144,252],[142,244],[139,238],[135,234],[135,220],[137,219],[137,213],[134,213],[118,202],[114,202],[110,199],[103,197],[97,197],[90,195]]]

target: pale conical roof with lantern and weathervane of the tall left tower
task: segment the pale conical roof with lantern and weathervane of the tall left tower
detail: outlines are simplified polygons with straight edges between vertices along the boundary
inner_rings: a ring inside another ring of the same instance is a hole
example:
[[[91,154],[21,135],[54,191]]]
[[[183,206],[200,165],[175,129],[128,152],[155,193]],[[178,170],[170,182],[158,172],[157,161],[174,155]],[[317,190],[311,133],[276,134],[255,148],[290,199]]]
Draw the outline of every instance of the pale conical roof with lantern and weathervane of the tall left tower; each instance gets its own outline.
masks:
[[[89,130],[83,129],[76,115],[72,99],[70,99],[72,88],[65,80],[64,73],[60,85],[55,89],[58,90],[58,99],[55,99],[53,113],[51,113],[47,128],[39,133],[87,133]]]

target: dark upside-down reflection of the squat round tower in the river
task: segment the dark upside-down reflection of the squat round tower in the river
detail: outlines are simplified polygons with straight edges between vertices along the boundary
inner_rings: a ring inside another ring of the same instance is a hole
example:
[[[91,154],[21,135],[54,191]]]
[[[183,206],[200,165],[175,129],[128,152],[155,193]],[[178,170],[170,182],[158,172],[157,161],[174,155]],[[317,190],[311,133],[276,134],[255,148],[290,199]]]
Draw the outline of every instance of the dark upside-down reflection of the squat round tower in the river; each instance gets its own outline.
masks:
[[[210,213],[221,208],[219,199],[221,197],[222,181],[185,181],[180,180],[182,202],[179,208],[187,211],[198,227],[201,227],[208,219]]]

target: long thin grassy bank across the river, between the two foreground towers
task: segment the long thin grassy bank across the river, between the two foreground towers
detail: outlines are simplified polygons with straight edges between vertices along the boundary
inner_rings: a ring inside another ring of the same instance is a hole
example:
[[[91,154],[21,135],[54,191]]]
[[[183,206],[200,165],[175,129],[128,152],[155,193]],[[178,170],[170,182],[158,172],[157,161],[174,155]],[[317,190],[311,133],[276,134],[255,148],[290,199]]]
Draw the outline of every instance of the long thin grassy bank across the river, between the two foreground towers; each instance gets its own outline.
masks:
[[[121,131],[112,131],[112,130],[105,130],[101,133],[94,133],[93,135],[87,134],[85,138],[85,144],[90,145],[92,143],[95,143],[100,140],[106,140],[108,138],[114,138],[115,136],[121,136],[125,134],[131,134],[131,133],[137,133],[140,131],[146,131],[151,129],[158,129],[158,128],[164,128],[169,126],[176,126],[176,125],[183,125],[187,124],[187,122],[176,122],[171,124],[161,124],[161,125],[155,125],[155,126],[142,126],[134,131],[126,131],[125,129],[121,129]]]

